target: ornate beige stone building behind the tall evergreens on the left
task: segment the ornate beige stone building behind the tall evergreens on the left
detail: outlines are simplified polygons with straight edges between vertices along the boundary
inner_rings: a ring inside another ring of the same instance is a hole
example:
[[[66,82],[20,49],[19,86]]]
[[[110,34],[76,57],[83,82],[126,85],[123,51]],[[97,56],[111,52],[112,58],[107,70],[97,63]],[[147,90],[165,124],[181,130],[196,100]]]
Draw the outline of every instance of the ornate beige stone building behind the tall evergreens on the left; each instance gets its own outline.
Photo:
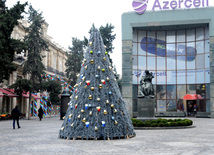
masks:
[[[14,39],[24,39],[26,35],[24,27],[28,27],[29,23],[26,20],[20,20],[19,25],[14,27],[13,33],[11,35]],[[49,75],[58,75],[60,77],[65,77],[65,62],[67,59],[66,56],[66,49],[55,43],[52,38],[47,34],[48,30],[48,23],[45,22],[42,29],[43,38],[47,41],[49,50],[50,51],[43,51],[42,55],[43,63],[46,68],[46,73]],[[28,78],[28,76],[24,76],[23,73],[23,66],[22,64],[27,59],[27,53],[15,54],[14,63],[17,65],[17,71],[14,71],[11,75],[9,80],[4,81],[0,84],[0,113],[10,113],[11,110],[17,105],[17,97],[16,95],[12,94],[11,91],[7,91],[7,87],[17,80],[17,78]],[[10,94],[11,93],[11,94]],[[40,104],[40,93],[37,96],[34,96],[34,100],[37,101],[39,107]],[[28,101],[29,98],[27,95],[23,95],[21,104],[19,104],[19,109],[22,113],[27,113],[28,109]]]

